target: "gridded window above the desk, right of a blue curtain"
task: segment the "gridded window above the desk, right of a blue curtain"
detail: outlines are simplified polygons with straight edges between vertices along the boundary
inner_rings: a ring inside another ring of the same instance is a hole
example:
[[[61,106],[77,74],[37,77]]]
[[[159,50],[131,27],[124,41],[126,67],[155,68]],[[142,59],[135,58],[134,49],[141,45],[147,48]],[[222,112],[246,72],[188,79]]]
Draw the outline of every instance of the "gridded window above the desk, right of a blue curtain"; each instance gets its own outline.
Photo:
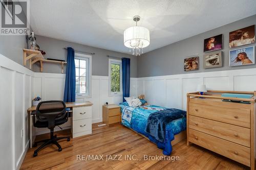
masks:
[[[84,54],[75,54],[76,67],[76,95],[90,95],[90,78],[91,78],[91,56]]]

